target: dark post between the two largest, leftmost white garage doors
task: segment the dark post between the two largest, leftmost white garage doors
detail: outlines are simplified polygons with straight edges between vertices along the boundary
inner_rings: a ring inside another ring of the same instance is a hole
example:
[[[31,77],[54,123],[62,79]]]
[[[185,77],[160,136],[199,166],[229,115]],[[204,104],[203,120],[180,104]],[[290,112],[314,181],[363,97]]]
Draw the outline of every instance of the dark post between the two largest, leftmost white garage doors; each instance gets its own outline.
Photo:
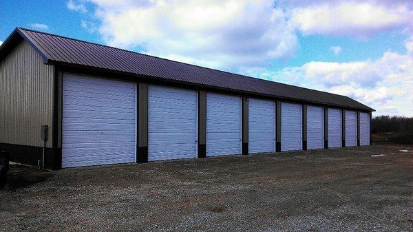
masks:
[[[149,90],[147,83],[138,83],[138,106],[136,116],[138,116],[138,146],[136,149],[136,162],[148,162],[148,100]]]

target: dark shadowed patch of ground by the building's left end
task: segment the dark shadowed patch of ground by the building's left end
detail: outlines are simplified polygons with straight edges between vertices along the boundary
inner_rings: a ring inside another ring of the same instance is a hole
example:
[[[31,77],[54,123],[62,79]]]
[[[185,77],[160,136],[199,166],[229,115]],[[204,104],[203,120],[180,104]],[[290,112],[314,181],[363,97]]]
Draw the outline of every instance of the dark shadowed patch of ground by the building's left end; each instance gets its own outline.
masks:
[[[51,171],[41,171],[36,167],[10,165],[7,173],[6,191],[13,191],[21,187],[36,184],[53,176]]]

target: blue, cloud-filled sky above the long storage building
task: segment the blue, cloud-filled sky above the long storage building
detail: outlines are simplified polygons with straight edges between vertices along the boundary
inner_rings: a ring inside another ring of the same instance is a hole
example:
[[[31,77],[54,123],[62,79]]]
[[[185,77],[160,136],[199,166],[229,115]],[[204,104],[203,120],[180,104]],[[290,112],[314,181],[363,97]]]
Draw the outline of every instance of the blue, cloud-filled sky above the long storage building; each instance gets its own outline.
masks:
[[[0,1],[16,27],[350,96],[413,116],[413,1]]]

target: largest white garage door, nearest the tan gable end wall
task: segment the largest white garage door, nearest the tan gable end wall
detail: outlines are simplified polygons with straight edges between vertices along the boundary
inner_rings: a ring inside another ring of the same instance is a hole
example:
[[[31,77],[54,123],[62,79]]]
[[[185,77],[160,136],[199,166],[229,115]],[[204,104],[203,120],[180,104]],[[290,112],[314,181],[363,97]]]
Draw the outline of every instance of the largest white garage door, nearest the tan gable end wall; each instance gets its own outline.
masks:
[[[64,74],[62,167],[136,160],[136,84]]]

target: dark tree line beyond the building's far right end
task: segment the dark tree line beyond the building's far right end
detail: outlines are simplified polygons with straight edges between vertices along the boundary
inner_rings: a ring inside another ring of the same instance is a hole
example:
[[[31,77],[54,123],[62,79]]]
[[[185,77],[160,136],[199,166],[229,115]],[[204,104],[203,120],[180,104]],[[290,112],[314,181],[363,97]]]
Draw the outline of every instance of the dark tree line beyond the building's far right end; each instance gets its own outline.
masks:
[[[372,118],[372,134],[413,132],[413,118],[403,116],[375,116]]]

